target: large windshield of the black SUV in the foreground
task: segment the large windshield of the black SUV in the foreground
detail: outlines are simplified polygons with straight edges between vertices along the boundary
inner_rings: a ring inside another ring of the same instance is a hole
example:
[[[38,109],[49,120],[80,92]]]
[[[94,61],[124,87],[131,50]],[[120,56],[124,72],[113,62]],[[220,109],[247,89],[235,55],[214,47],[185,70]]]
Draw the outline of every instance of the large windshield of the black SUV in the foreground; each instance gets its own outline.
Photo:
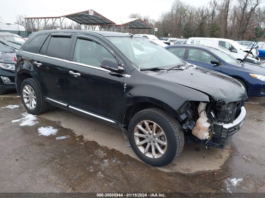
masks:
[[[160,67],[169,69],[186,63],[151,40],[135,37],[107,37],[116,48],[140,69]]]

